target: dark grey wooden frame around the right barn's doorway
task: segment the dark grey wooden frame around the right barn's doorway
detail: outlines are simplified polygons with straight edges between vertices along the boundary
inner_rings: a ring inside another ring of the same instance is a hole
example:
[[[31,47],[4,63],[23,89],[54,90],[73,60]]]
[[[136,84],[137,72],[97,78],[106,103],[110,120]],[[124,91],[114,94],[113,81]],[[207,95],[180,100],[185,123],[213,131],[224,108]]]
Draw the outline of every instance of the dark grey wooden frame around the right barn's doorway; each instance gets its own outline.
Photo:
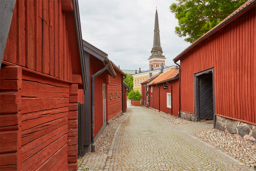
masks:
[[[215,115],[215,94],[214,94],[214,67],[209,68],[204,71],[200,71],[198,73],[194,73],[194,102],[195,102],[195,119],[196,121],[200,121],[199,117],[199,77],[202,74],[206,74],[208,72],[212,72],[213,77],[213,127],[215,128],[216,123],[216,115]]]

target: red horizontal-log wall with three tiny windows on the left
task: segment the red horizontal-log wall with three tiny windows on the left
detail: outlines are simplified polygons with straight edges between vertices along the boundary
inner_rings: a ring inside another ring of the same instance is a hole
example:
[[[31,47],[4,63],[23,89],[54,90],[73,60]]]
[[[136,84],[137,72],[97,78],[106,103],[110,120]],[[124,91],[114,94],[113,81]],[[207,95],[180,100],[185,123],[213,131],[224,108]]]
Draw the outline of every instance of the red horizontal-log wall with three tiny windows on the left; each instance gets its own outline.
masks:
[[[115,70],[115,69],[114,69]],[[116,77],[108,76],[108,113],[107,120],[111,120],[115,115],[122,112],[122,74],[115,70]],[[110,94],[112,93],[112,100],[110,100]],[[117,98],[115,98],[115,93]],[[120,93],[120,97],[119,97]]]

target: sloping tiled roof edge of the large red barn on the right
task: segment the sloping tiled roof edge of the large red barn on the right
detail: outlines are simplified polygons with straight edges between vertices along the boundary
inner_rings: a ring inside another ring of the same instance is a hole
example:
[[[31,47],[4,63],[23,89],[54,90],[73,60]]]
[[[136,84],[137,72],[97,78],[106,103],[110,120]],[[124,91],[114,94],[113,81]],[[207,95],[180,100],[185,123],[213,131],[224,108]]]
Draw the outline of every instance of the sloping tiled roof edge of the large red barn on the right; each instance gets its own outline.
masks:
[[[256,0],[248,0],[246,3],[244,3],[242,6],[240,6],[238,9],[236,9],[232,14],[230,14],[229,16],[227,16],[224,20],[222,20],[219,24],[217,24],[216,26],[214,26],[213,28],[211,28],[211,30],[207,31],[206,34],[204,34],[203,36],[201,36],[200,38],[198,38],[196,41],[194,41],[190,46],[188,46],[185,50],[183,50],[180,54],[178,54],[178,56],[176,56],[173,61],[177,62],[179,60],[179,58],[181,56],[183,56],[183,54],[185,54],[190,48],[196,46],[196,44],[198,44],[199,42],[203,41],[204,38],[206,38],[207,36],[209,36],[210,34],[213,34],[214,32],[216,32],[217,30],[220,29],[220,27],[225,26],[225,22],[229,22],[234,20],[237,16],[239,16],[240,13],[244,12],[243,9],[249,5],[255,4]],[[234,16],[236,15],[236,16]]]

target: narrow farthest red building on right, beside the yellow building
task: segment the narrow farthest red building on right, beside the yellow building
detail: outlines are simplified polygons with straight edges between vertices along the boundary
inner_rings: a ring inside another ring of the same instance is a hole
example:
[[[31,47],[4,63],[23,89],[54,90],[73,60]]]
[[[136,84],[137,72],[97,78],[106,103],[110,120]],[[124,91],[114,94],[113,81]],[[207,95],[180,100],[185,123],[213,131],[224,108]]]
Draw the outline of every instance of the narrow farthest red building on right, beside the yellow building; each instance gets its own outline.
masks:
[[[148,91],[148,84],[153,81],[157,76],[159,76],[161,72],[155,74],[152,76],[152,73],[149,73],[149,77],[145,80],[142,81],[141,83],[141,106],[144,107],[150,107],[150,91]]]

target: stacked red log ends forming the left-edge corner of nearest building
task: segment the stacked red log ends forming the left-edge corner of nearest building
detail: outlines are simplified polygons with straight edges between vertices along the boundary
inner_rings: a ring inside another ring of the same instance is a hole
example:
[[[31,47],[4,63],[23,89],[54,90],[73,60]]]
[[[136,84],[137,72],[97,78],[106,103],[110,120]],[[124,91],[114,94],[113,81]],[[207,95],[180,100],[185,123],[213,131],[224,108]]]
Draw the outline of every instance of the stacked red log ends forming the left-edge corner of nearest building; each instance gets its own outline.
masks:
[[[0,75],[0,170],[21,170],[22,68],[1,67]]]

